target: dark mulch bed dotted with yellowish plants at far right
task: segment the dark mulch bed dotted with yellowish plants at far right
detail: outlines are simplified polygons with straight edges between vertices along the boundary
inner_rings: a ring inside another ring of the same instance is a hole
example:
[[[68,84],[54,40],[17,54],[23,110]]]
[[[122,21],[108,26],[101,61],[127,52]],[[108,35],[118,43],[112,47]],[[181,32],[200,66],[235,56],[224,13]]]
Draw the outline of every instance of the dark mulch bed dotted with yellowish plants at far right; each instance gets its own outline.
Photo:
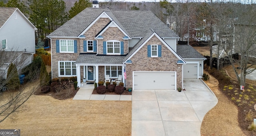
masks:
[[[239,83],[228,77],[225,71],[205,70],[219,81],[219,90],[228,97],[229,101],[237,106],[238,123],[244,134],[246,134],[246,136],[256,136],[255,131],[248,130],[248,126],[251,122],[245,121],[246,114],[250,110],[256,115],[256,111],[254,110],[254,104],[256,103],[256,86],[252,89],[246,84],[245,91],[241,91]],[[254,116],[254,118],[256,118],[256,116]]]

